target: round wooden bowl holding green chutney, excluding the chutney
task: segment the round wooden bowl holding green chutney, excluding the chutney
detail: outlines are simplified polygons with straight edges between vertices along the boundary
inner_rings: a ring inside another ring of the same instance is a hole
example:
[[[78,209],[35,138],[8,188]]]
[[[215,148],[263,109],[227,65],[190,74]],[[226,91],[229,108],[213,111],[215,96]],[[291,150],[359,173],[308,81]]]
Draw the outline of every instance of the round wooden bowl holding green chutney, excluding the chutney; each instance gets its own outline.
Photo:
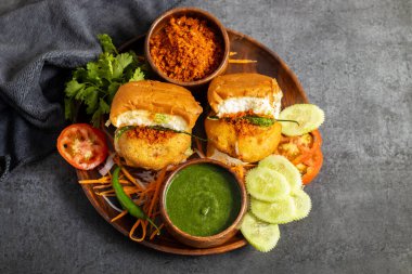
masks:
[[[170,183],[172,182],[172,179],[175,178],[175,175],[180,170],[186,168],[188,166],[196,165],[196,164],[211,164],[211,165],[216,165],[216,166],[219,166],[219,167],[226,169],[235,179],[237,186],[239,186],[239,190],[240,190],[240,194],[241,194],[241,209],[240,209],[237,217],[234,220],[234,222],[224,231],[222,231],[216,235],[207,236],[207,237],[193,236],[193,235],[190,235],[190,234],[179,230],[179,227],[177,227],[171,222],[171,220],[167,213],[167,209],[166,209],[166,194],[167,194],[167,190],[168,190]],[[175,238],[177,238],[179,242],[181,242],[188,246],[195,247],[195,248],[210,248],[210,247],[220,246],[220,245],[224,244],[226,242],[228,242],[230,238],[232,238],[237,233],[237,229],[240,227],[242,218],[246,213],[246,210],[247,210],[247,194],[246,194],[246,188],[245,188],[245,185],[244,185],[242,179],[240,179],[239,175],[235,172],[233,172],[227,165],[224,165],[220,161],[217,161],[217,160],[211,160],[211,159],[206,159],[206,158],[189,160],[189,161],[182,164],[173,172],[171,172],[162,186],[160,199],[159,200],[160,200],[160,213],[162,213],[162,217],[165,221],[165,226],[168,230],[168,232]]]

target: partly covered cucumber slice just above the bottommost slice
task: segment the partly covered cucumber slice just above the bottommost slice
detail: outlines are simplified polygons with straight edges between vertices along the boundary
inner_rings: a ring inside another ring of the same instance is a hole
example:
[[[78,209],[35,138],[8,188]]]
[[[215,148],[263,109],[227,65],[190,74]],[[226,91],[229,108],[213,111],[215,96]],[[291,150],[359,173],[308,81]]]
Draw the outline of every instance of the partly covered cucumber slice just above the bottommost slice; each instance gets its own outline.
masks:
[[[267,203],[250,197],[250,211],[261,221],[282,224],[295,220],[296,206],[292,196],[274,203]]]

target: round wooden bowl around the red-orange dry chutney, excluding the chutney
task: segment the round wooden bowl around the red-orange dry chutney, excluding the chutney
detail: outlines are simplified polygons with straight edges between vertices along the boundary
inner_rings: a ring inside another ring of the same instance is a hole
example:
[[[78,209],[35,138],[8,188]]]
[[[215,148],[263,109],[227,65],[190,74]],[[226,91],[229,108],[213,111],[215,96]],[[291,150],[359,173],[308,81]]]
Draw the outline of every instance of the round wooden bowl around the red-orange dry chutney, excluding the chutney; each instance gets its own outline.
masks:
[[[211,26],[211,28],[217,31],[217,34],[221,37],[222,45],[223,45],[223,57],[220,62],[220,65],[218,68],[207,77],[196,80],[196,81],[189,81],[183,82],[176,80],[173,78],[168,77],[165,73],[163,73],[154,63],[151,52],[150,52],[150,40],[151,38],[156,35],[159,30],[162,30],[165,25],[170,21],[171,17],[179,17],[179,16],[188,16],[188,17],[194,17],[194,18],[202,18],[205,19],[208,25]],[[152,69],[163,79],[165,79],[168,82],[179,84],[182,87],[199,87],[208,83],[211,79],[214,79],[216,76],[221,75],[224,73],[224,70],[228,67],[228,61],[229,61],[229,51],[230,51],[230,42],[229,42],[229,36],[227,29],[223,27],[223,25],[219,22],[218,18],[216,18],[210,13],[203,11],[201,9],[196,8],[178,8],[170,10],[163,15],[160,15],[155,22],[153,22],[151,28],[149,29],[146,39],[144,41],[144,55],[147,60],[147,63],[152,67]]]

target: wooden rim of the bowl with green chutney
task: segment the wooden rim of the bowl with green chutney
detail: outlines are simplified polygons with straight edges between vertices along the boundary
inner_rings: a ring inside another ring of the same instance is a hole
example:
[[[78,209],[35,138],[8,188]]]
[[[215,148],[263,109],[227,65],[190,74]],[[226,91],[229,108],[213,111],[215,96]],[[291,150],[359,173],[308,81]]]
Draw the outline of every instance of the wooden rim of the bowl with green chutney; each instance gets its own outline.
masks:
[[[182,169],[184,169],[189,166],[198,165],[198,164],[216,165],[216,166],[219,166],[220,168],[227,170],[235,179],[236,184],[237,184],[239,190],[240,190],[240,195],[241,195],[241,208],[239,210],[236,219],[227,229],[224,229],[223,231],[219,232],[218,234],[215,234],[211,236],[194,236],[194,235],[190,235],[189,233],[183,232],[182,230],[177,227],[171,222],[168,213],[166,212],[166,192],[167,192],[169,185],[171,184],[173,177],[179,171],[181,171]],[[222,239],[222,238],[227,237],[228,235],[230,235],[233,232],[233,230],[239,229],[239,225],[243,219],[243,216],[246,213],[246,209],[247,209],[247,193],[246,193],[246,188],[245,188],[245,185],[244,185],[242,179],[237,175],[236,172],[231,170],[228,165],[226,165],[221,161],[217,161],[217,160],[208,159],[208,158],[197,158],[197,159],[188,160],[188,161],[181,164],[172,172],[170,172],[170,174],[168,174],[167,179],[165,180],[164,184],[162,185],[160,199],[159,200],[160,200],[160,213],[162,213],[164,221],[167,223],[166,227],[171,229],[175,233],[179,234],[181,237],[184,237],[185,239],[188,239],[190,242],[194,242],[194,243],[210,243],[210,242],[215,242],[215,240]]]

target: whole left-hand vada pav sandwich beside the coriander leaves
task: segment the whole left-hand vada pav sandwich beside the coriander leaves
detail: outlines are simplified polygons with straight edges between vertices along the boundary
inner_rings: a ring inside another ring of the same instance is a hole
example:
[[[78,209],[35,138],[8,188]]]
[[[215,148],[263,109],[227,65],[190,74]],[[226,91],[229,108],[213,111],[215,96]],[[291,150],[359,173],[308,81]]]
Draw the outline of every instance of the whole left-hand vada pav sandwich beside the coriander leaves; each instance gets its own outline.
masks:
[[[191,154],[191,132],[201,105],[182,87],[137,81],[121,86],[110,119],[117,130],[115,149],[131,167],[162,169]]]

